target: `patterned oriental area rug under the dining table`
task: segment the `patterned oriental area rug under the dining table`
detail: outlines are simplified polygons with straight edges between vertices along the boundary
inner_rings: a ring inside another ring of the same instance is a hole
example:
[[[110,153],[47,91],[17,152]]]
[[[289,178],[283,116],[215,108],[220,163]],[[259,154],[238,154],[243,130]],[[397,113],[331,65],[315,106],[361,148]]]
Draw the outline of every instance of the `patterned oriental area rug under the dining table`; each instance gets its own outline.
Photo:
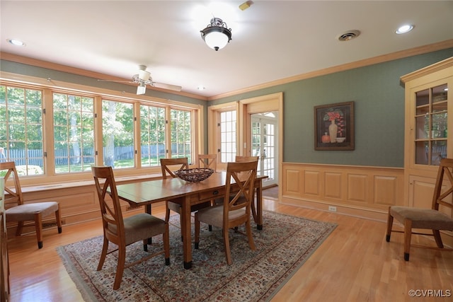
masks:
[[[120,289],[113,290],[117,254],[107,255],[96,271],[103,237],[57,248],[85,301],[269,301],[292,274],[336,228],[335,223],[313,221],[271,211],[263,212],[263,230],[253,223],[256,250],[246,236],[230,231],[232,265],[226,265],[222,231],[201,224],[200,249],[193,249],[193,266],[183,268],[179,216],[171,216],[171,265],[158,255],[125,269]],[[192,227],[193,228],[193,227]],[[244,231],[239,228],[239,231]],[[193,238],[192,238],[193,239]],[[110,243],[112,250],[116,245]],[[148,252],[162,249],[161,236]],[[142,242],[129,245],[126,262],[146,253]]]

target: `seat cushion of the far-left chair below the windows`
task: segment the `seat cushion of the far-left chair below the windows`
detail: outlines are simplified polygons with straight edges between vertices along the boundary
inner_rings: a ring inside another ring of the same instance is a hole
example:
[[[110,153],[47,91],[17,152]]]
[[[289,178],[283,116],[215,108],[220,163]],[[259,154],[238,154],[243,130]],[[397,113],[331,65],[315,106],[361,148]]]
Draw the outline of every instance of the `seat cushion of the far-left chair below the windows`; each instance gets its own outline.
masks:
[[[35,214],[41,213],[42,217],[54,214],[58,210],[58,202],[34,202],[20,204],[6,209],[7,221],[34,221]]]

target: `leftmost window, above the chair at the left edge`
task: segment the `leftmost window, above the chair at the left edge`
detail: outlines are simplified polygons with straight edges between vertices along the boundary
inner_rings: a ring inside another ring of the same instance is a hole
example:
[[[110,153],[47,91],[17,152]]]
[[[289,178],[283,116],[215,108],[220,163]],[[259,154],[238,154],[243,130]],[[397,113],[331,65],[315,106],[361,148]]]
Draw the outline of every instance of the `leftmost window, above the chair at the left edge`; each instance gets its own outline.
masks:
[[[0,161],[19,175],[44,173],[42,91],[0,86]]]

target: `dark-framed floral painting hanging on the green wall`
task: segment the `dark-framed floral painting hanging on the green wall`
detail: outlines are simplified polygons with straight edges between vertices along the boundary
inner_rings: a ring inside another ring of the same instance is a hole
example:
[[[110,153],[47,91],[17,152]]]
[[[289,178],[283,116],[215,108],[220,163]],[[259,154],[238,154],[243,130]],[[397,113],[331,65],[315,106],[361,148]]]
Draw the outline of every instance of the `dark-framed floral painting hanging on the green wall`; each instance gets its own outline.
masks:
[[[354,150],[354,102],[314,107],[314,149]]]

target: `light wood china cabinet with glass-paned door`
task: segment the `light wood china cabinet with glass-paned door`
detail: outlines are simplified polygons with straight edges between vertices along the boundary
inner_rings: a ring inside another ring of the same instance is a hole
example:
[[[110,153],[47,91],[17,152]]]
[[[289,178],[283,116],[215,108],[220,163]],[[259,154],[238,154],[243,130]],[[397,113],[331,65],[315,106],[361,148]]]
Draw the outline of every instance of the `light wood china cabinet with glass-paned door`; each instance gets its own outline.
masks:
[[[404,200],[430,209],[440,159],[453,157],[453,57],[401,76],[401,82],[406,102]]]

